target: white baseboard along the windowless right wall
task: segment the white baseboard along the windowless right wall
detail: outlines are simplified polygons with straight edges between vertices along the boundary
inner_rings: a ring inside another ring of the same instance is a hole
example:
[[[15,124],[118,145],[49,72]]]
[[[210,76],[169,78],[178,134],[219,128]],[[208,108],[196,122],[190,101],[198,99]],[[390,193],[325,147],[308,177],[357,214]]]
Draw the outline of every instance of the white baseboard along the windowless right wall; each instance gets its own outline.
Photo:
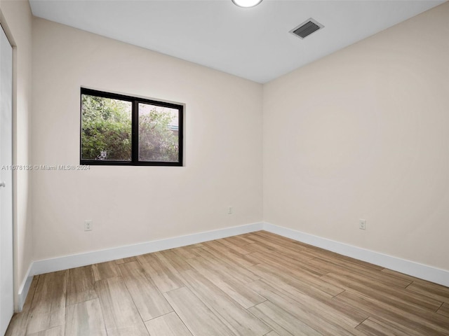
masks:
[[[374,265],[379,265],[388,269],[392,269],[396,272],[415,276],[420,279],[439,283],[443,286],[449,287],[449,271],[445,269],[439,269],[428,265],[423,265],[418,262],[405,260],[391,255],[370,251],[365,248],[352,246],[339,241],[334,241],[314,235],[309,235],[297,230],[283,228],[278,225],[270,223],[264,223],[262,225],[263,230],[275,233],[283,237],[301,241],[302,243],[313,245],[316,247],[324,248],[328,251],[333,251],[348,257],[370,262]]]

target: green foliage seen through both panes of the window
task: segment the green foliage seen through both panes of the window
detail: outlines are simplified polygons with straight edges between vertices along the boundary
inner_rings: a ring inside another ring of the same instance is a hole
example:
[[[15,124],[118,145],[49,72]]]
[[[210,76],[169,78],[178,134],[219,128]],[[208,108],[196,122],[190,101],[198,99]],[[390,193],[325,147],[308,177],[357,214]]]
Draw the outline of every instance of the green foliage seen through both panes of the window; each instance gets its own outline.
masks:
[[[81,160],[132,160],[132,102],[81,94]],[[177,109],[138,104],[138,160],[177,162]]]

